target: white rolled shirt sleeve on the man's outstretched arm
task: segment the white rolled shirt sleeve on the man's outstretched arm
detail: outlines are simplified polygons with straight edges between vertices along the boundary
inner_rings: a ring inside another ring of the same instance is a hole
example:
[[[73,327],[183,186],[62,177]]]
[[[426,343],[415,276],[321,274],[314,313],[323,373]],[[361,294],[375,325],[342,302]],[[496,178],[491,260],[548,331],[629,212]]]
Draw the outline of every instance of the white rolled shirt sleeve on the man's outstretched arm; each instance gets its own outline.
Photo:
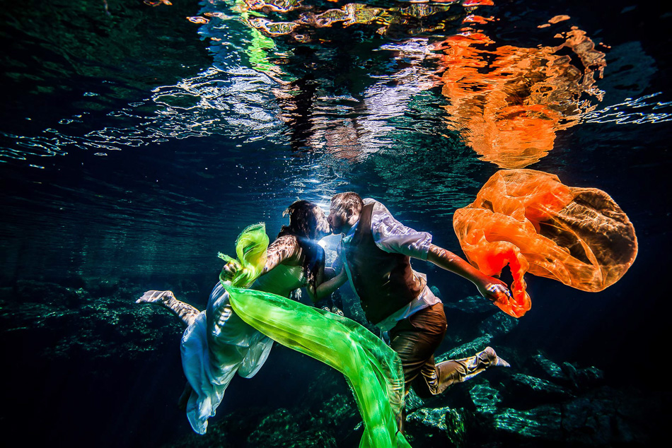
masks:
[[[364,199],[364,204],[371,204],[371,201],[373,199]],[[371,233],[376,246],[385,252],[427,260],[431,234],[406,227],[378,201],[375,201],[371,214]]]

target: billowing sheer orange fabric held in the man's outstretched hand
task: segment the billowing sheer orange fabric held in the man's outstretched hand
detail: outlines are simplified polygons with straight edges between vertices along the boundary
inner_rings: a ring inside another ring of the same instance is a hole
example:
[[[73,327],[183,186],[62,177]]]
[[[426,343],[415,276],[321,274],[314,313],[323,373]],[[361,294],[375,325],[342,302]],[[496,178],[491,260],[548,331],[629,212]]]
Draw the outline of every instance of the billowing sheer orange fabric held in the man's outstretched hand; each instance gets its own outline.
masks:
[[[496,305],[514,317],[531,307],[526,272],[597,292],[637,256],[635,228],[608,194],[534,170],[495,173],[473,204],[455,212],[453,228],[467,259],[486,275],[509,265],[514,300],[501,297]]]

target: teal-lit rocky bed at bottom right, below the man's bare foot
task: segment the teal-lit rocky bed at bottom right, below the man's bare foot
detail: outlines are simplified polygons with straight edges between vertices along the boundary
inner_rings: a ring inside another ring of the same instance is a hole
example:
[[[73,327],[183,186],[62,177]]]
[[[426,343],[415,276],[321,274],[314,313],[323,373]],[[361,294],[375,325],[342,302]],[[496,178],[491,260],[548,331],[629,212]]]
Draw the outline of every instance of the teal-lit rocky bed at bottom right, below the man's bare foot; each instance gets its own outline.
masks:
[[[596,367],[558,365],[541,353],[517,364],[496,376],[486,371],[424,402],[409,394],[417,400],[407,425],[419,442],[414,446],[644,447],[660,431],[655,422],[664,412],[664,396],[651,400],[603,386]],[[466,402],[460,398],[465,391]]]

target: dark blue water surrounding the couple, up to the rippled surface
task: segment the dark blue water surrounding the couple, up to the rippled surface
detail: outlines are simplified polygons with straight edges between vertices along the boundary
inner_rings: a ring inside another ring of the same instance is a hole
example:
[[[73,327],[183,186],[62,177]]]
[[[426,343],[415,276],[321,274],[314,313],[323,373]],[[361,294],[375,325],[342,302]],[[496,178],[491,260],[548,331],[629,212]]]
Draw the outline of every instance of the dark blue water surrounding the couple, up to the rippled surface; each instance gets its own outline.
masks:
[[[460,253],[453,212],[502,167],[477,148],[497,138],[515,148],[527,136],[493,131],[497,112],[470,109],[497,111],[501,98],[557,114],[546,131],[529,131],[543,151],[528,168],[608,192],[635,226],[639,254],[601,293],[528,278],[532,310],[493,343],[520,360],[543,350],[595,366],[610,387],[668,402],[672,11],[627,1],[482,3],[402,11],[418,6],[373,1],[376,20],[318,26],[315,16],[346,2],[304,0],[287,13],[256,11],[304,18],[291,33],[269,33],[233,1],[1,1],[3,432],[17,444],[185,440],[191,430],[175,408],[182,330],[161,312],[139,314],[133,300],[171,288],[204,307],[221,268],[216,253],[230,253],[245,225],[264,220],[274,235],[292,201],[326,207],[338,191],[379,199]],[[561,15],[569,18],[548,22]],[[557,49],[577,30],[602,57],[586,41]],[[484,37],[459,47],[450,38],[460,34]],[[506,56],[518,62],[492,76]],[[560,74],[538,79],[535,64],[563,56]],[[460,67],[475,61],[480,69],[463,75],[474,84],[458,86]],[[513,84],[502,88],[502,79]],[[542,85],[569,93],[529,100]],[[475,294],[415,266],[444,302]],[[446,314],[444,351],[475,337],[473,316]],[[242,423],[220,443],[243,446],[236,437],[254,429],[248,415],[304,406],[306,391],[318,393],[308,387],[326,381],[320,375],[330,373],[318,362],[274,348],[257,377],[227,391],[218,418]]]

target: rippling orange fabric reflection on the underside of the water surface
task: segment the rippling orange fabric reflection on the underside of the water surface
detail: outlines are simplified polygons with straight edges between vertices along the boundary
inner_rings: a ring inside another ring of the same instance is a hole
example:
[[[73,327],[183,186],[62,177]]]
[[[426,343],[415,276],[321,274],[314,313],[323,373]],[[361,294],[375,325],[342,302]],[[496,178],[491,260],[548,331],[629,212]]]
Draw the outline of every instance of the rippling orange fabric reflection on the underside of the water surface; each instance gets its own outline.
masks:
[[[593,71],[606,65],[604,54],[581,30],[566,37],[558,47],[492,48],[489,37],[472,33],[436,46],[444,50],[448,127],[460,131],[482,160],[502,168],[537,162],[553,148],[556,131],[592,110],[582,94],[601,100]],[[577,54],[583,70],[557,54],[564,47]]]

